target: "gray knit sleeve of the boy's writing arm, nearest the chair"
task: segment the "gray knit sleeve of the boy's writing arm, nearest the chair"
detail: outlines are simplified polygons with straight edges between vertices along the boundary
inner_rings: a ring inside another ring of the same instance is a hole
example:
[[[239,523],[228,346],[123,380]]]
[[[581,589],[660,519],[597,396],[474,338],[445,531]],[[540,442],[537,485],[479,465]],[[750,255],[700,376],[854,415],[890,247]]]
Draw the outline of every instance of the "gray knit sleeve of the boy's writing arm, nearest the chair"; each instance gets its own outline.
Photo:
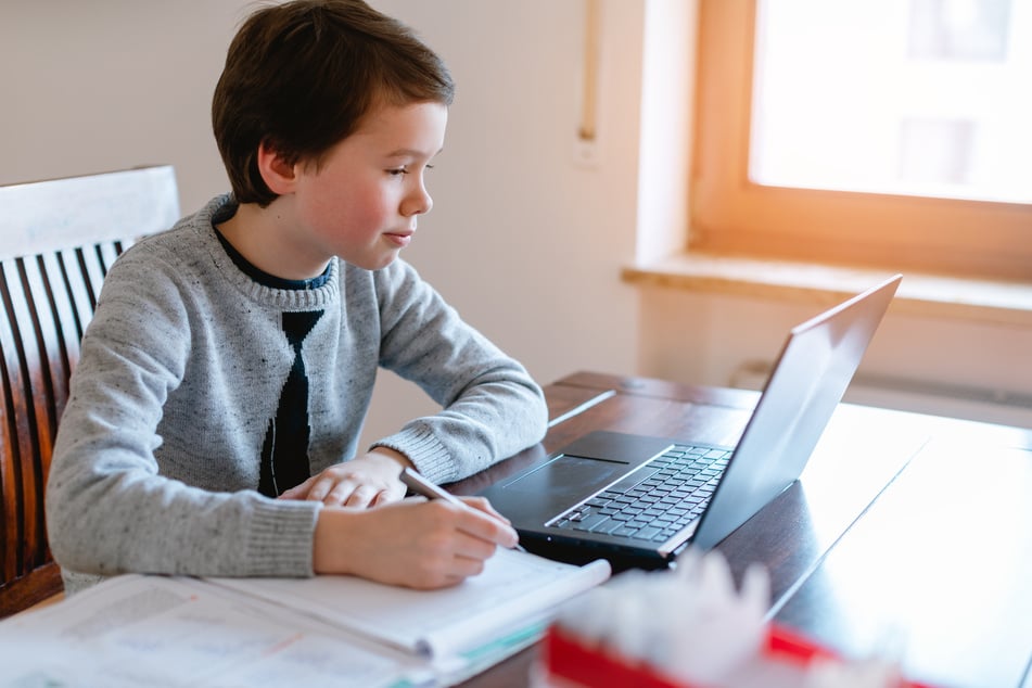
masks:
[[[116,263],[84,337],[47,488],[54,559],[101,575],[311,575],[318,505],[158,474],[157,428],[191,335],[174,280],[154,273]]]

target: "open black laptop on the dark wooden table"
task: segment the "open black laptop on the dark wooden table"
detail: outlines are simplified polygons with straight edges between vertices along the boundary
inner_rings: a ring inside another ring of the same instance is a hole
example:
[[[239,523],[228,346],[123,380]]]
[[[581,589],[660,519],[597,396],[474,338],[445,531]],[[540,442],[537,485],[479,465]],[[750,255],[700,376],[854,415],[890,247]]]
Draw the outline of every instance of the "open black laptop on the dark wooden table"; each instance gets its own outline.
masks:
[[[901,279],[789,332],[737,446],[591,432],[480,494],[559,561],[661,569],[716,546],[799,479]]]

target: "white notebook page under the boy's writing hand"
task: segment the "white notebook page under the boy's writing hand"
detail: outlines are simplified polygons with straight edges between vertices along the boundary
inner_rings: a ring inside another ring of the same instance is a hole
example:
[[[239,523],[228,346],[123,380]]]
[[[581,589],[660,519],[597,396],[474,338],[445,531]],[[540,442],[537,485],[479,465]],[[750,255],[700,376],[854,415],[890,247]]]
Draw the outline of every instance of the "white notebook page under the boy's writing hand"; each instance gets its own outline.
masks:
[[[471,652],[543,625],[556,608],[610,576],[609,562],[585,566],[499,549],[484,571],[438,590],[413,590],[354,576],[209,578],[304,611],[409,652],[443,658]]]

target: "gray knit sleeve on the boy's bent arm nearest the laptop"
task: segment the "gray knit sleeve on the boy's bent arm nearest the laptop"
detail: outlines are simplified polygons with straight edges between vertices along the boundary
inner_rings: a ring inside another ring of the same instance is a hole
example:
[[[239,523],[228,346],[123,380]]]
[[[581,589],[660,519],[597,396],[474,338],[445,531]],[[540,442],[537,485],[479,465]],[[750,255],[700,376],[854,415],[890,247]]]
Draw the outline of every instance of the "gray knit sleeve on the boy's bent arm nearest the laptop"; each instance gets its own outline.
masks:
[[[436,482],[460,480],[539,442],[540,386],[402,260],[377,273],[383,367],[442,405],[375,445],[402,451]]]

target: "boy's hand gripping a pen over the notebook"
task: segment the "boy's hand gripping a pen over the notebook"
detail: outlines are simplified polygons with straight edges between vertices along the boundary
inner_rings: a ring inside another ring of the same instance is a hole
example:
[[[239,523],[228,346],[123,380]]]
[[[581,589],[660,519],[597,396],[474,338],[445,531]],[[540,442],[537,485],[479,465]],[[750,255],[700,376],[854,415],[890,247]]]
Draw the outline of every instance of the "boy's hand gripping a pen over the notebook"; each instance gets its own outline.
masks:
[[[515,531],[482,498],[472,509],[421,498],[372,509],[323,507],[313,548],[316,573],[343,573],[411,588],[457,585],[484,569]]]

